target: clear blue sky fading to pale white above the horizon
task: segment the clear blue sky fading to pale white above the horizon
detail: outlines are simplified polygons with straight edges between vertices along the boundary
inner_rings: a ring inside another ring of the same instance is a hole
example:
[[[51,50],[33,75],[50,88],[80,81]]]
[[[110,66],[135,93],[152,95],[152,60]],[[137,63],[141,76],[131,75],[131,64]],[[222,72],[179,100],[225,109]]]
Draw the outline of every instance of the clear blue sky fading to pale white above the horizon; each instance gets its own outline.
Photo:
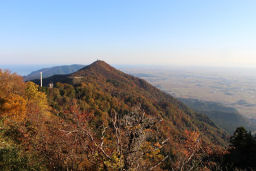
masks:
[[[254,0],[2,0],[7,64],[256,66]]]

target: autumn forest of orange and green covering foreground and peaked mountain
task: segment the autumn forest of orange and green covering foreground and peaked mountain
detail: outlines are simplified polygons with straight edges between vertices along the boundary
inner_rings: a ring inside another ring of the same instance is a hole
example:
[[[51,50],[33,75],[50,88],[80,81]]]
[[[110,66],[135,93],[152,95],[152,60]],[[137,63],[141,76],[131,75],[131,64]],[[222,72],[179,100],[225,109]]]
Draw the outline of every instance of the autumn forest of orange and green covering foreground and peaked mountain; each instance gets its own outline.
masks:
[[[253,170],[256,138],[97,61],[24,82],[0,70],[1,170]],[[48,87],[53,83],[54,87]]]

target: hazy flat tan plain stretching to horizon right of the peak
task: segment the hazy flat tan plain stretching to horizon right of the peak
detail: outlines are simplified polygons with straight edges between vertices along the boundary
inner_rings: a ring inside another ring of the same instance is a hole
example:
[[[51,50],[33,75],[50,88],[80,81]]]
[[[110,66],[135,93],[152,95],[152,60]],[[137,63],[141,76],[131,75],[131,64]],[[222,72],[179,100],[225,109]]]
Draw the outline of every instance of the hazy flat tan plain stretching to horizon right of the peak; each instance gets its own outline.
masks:
[[[256,73],[250,68],[122,67],[177,98],[222,103],[256,119]]]

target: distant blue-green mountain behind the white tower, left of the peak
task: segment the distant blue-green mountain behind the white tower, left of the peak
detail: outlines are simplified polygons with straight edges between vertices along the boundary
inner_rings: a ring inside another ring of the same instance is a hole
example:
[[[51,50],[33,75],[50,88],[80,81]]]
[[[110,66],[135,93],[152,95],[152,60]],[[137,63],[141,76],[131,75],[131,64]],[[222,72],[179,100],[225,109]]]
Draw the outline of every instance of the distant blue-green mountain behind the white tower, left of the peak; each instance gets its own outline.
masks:
[[[25,81],[39,79],[40,78],[40,72],[43,72],[43,77],[47,78],[53,75],[64,75],[64,74],[71,74],[73,72],[78,71],[79,69],[85,67],[85,65],[62,65],[62,66],[55,66],[55,67],[49,67],[49,68],[43,68],[37,71],[33,71],[27,76],[24,76]]]

